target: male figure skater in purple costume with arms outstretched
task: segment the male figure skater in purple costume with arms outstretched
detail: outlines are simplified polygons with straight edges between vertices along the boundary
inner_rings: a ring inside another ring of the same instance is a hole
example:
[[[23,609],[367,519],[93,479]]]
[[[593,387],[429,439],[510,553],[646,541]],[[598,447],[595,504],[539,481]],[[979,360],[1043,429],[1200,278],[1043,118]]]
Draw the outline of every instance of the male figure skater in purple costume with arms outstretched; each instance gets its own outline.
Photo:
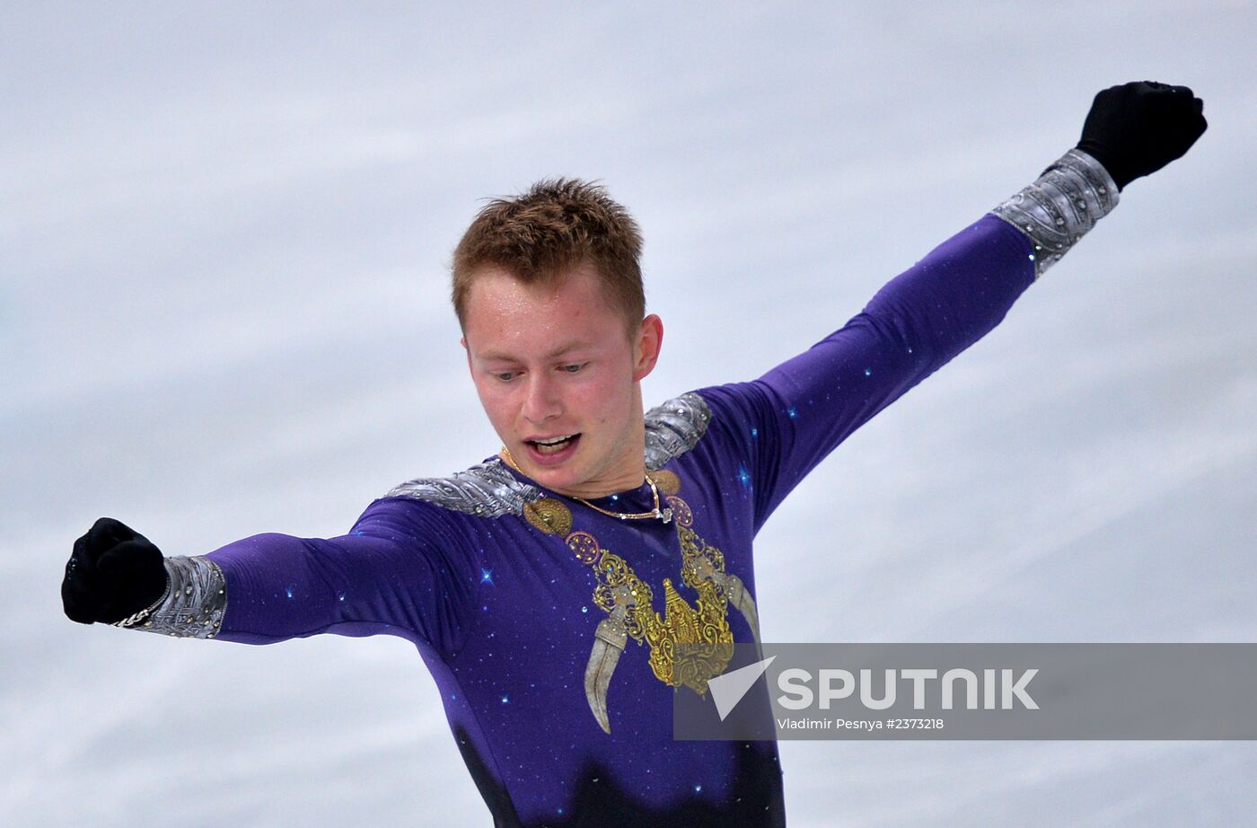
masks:
[[[261,534],[163,557],[109,518],[74,543],[80,623],[273,643],[415,643],[497,825],[782,825],[772,741],[674,741],[674,692],[759,640],[752,539],[842,440],[998,324],[1117,204],[1204,132],[1185,87],[1100,92],[1079,144],[752,382],[642,411],[662,342],[641,236],[597,186],[489,204],[454,307],[503,449],[403,482],[338,538]],[[684,665],[679,643],[711,645]]]

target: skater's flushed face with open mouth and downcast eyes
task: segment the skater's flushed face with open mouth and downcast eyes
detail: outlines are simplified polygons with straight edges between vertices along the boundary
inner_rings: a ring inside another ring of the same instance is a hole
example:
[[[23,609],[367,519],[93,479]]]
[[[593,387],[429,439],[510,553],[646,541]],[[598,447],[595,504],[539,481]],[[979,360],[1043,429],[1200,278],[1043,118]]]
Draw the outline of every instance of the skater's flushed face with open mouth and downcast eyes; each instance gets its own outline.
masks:
[[[471,283],[463,347],[476,393],[523,472],[553,491],[601,498],[642,482],[641,379],[664,328],[654,314],[625,328],[590,265],[553,284],[497,269]]]

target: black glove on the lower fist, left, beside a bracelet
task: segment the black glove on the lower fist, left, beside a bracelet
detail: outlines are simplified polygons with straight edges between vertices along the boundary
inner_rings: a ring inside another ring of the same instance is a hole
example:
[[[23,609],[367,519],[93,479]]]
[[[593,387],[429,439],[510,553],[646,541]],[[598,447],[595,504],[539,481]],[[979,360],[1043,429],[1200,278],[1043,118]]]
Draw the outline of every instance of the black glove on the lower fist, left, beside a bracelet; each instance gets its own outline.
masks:
[[[147,538],[113,518],[101,518],[74,542],[65,564],[62,604],[80,624],[114,623],[166,592],[166,564]]]

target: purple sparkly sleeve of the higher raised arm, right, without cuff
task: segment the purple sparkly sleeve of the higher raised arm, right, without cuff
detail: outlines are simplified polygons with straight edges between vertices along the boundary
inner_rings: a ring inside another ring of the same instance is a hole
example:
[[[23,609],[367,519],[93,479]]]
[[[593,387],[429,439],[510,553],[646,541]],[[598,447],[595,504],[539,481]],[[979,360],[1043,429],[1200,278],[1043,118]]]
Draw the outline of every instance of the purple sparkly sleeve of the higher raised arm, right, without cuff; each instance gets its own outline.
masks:
[[[999,324],[1035,281],[1031,253],[987,214],[808,351],[753,382],[699,391],[745,464],[732,474],[754,489],[755,530],[847,435]]]

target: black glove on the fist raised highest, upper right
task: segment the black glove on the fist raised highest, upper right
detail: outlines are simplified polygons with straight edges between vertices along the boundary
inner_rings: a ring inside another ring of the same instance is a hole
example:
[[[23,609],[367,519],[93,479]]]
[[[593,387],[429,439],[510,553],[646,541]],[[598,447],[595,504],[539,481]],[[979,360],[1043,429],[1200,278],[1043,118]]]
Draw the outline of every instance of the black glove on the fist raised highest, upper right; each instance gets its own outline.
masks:
[[[1134,80],[1096,94],[1077,148],[1104,165],[1120,191],[1182,158],[1208,123],[1187,87]]]

